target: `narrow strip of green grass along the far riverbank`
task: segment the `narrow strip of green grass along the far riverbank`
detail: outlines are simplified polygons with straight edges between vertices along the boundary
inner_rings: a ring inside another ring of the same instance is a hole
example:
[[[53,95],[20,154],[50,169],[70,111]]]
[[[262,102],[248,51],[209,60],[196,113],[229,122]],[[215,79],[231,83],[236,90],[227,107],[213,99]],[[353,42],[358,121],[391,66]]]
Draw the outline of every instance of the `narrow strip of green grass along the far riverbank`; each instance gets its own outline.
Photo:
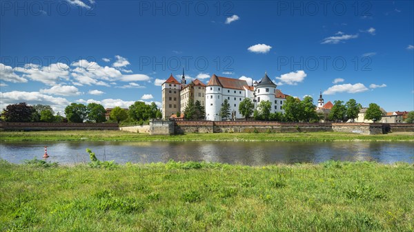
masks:
[[[184,134],[149,136],[126,131],[1,131],[0,140],[22,141],[414,141],[413,133],[359,135],[338,132]]]

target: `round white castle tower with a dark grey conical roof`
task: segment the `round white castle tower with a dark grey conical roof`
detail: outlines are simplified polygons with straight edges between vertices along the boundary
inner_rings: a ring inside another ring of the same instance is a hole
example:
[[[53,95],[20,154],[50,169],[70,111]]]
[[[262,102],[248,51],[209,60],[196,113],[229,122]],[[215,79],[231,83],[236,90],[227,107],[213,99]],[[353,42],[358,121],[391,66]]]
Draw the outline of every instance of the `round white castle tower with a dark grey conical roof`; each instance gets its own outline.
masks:
[[[272,113],[275,112],[275,92],[276,92],[275,83],[270,80],[267,73],[264,73],[264,77],[262,78],[257,85],[255,85],[255,94],[256,94],[256,103],[259,105],[261,101],[270,101],[272,104],[271,111]]]

